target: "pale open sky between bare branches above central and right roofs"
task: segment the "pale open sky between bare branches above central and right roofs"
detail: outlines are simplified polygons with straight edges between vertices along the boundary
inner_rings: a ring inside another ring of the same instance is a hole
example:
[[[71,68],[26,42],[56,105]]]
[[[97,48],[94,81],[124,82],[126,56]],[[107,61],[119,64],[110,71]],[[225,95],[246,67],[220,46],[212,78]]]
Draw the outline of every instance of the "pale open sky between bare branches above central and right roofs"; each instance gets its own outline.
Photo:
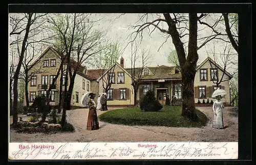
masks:
[[[103,18],[99,21],[98,26],[96,26],[99,29],[104,29],[108,30],[107,35],[114,40],[116,38],[119,38],[119,40],[122,43],[122,48],[124,48],[131,39],[127,39],[127,37],[132,34],[135,29],[131,28],[131,25],[139,25],[142,24],[143,22],[137,22],[142,14],[137,14],[137,13],[126,13],[126,14],[121,14],[121,13],[99,13],[99,14],[93,14],[92,16],[95,19],[100,19]],[[148,20],[154,20],[152,18],[148,18]],[[207,22],[210,22],[212,19],[208,18]],[[167,30],[167,26],[163,25],[163,28]],[[198,25],[198,30],[201,30],[205,28],[203,25]],[[219,27],[220,29],[222,28],[221,26]],[[151,31],[154,28],[151,28]],[[221,31],[223,32],[224,30],[224,25]],[[209,35],[210,30],[209,28],[205,28],[204,30],[198,32],[198,38],[201,36],[207,36]],[[148,66],[171,66],[172,64],[168,63],[167,56],[168,54],[172,51],[175,50],[175,47],[172,43],[172,38],[168,38],[166,40],[166,35],[159,30],[155,30],[152,32],[151,36],[148,36],[148,31],[145,29],[143,32],[143,40],[141,43],[141,46],[150,49],[151,52],[151,59],[150,59],[150,64]],[[187,41],[188,37],[183,39],[183,41]],[[164,43],[165,42],[165,43]],[[163,44],[164,43],[164,44]],[[202,48],[198,50],[199,54],[199,60],[198,64],[203,62],[207,56],[212,57],[212,51],[215,48],[215,53],[222,53],[224,50],[224,45],[223,43],[218,43],[218,42],[208,42],[209,44],[206,44]],[[161,46],[162,45],[162,46]],[[199,46],[200,44],[198,44]],[[215,45],[215,47],[213,46]],[[230,44],[231,46],[231,44]],[[159,49],[160,48],[160,49]],[[230,49],[231,53],[236,53],[234,49],[231,47]],[[208,52],[208,53],[207,53]],[[131,48],[127,46],[122,53],[122,57],[124,58],[124,67],[130,67],[131,62],[130,62],[130,54],[131,54]],[[139,63],[139,61],[138,61]],[[138,64],[139,65],[139,64]],[[221,64],[220,64],[221,65]],[[88,67],[90,69],[90,66]],[[236,68],[236,67],[232,67]],[[233,69],[230,68],[230,72],[232,72]]]

